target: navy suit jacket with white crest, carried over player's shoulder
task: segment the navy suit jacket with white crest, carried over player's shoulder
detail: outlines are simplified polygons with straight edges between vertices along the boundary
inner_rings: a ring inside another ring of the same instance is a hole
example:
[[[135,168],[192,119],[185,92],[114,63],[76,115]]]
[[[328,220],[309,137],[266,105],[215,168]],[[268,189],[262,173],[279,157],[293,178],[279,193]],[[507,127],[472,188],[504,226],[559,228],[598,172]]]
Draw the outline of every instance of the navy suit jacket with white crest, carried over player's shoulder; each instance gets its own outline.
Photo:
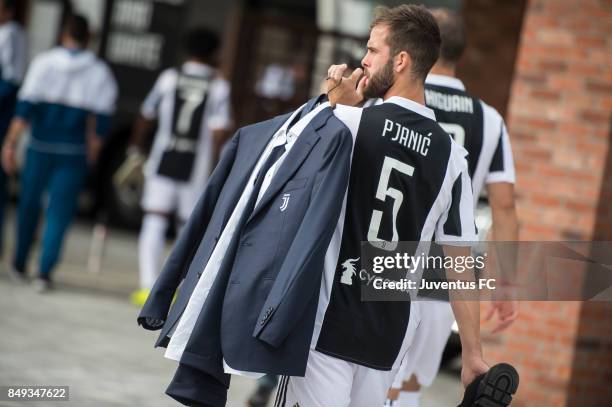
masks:
[[[146,329],[158,329],[147,318],[165,321],[156,346],[167,345],[259,156],[289,116],[241,128],[225,148],[138,317]],[[348,128],[329,107],[306,126],[235,233],[182,364],[221,380],[227,379],[223,358],[237,370],[304,375],[324,257],[348,184],[352,144]],[[281,210],[285,194],[290,198]]]

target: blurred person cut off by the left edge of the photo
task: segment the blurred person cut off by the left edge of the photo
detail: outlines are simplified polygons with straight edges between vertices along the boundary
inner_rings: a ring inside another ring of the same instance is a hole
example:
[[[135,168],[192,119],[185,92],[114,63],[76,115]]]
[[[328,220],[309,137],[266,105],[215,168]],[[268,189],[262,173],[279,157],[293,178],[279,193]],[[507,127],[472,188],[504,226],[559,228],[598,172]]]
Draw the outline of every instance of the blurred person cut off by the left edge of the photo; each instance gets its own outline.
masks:
[[[15,0],[0,0],[0,143],[9,128],[26,69],[26,38]],[[3,252],[7,176],[0,168],[0,255]]]

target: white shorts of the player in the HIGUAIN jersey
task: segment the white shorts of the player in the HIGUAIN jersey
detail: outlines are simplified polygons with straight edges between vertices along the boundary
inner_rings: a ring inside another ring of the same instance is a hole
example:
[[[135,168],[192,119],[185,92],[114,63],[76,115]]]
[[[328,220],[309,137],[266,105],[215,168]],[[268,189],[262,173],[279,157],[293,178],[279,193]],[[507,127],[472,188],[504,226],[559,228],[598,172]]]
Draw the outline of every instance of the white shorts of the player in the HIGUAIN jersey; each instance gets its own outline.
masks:
[[[409,380],[413,374],[421,386],[431,386],[438,375],[442,353],[455,322],[450,303],[434,300],[419,303],[421,324],[393,380],[396,389],[401,388],[402,382]]]

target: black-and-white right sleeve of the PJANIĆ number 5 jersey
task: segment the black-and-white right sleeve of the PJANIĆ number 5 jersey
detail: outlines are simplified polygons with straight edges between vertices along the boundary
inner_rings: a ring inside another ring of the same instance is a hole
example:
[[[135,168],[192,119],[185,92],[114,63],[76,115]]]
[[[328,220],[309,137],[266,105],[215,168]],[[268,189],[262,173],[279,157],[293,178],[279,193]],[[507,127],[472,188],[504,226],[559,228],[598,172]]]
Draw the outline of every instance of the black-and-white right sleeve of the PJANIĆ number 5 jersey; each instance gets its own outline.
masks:
[[[452,184],[447,210],[436,225],[436,243],[462,246],[478,241],[474,223],[472,181],[467,166]]]

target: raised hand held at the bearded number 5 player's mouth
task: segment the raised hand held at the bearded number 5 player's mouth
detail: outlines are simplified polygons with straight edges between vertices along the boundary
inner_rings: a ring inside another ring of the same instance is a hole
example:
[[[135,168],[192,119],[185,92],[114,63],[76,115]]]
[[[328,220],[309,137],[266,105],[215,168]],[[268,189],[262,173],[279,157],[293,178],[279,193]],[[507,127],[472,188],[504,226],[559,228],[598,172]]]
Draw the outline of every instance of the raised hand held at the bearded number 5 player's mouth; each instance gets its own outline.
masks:
[[[346,69],[347,65],[341,64],[332,65],[327,70],[325,90],[332,106],[338,103],[357,106],[363,100],[363,89],[367,83],[367,77],[363,76],[361,68],[357,68],[348,78],[344,78]]]

